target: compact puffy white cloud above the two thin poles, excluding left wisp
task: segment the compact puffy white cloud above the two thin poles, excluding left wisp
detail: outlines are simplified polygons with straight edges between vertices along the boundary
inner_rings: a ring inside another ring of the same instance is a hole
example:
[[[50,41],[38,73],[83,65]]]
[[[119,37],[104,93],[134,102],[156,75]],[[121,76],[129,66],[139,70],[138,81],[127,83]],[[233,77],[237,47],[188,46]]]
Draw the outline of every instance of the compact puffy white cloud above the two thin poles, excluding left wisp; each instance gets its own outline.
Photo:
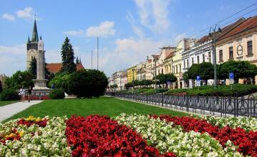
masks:
[[[86,36],[109,36],[115,34],[114,21],[104,21],[99,26],[91,26],[86,29]]]

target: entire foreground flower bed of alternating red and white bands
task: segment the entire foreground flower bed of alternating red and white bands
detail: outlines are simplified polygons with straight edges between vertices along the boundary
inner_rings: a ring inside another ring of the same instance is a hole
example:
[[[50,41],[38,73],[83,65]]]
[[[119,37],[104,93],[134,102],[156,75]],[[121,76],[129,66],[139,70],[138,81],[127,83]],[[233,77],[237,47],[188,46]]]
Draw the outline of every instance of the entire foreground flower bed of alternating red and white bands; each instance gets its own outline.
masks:
[[[0,156],[256,156],[256,123],[125,113],[29,116],[0,123]]]

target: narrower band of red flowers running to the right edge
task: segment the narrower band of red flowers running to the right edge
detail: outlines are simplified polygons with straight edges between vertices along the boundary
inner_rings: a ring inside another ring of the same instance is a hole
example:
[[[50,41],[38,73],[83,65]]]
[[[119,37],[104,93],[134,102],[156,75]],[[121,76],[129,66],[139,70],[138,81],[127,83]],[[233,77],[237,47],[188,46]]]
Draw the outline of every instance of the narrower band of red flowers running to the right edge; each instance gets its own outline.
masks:
[[[173,122],[178,126],[183,126],[184,131],[196,131],[199,133],[208,133],[213,138],[216,138],[222,146],[226,146],[228,141],[232,141],[235,146],[238,146],[237,151],[247,156],[256,156],[257,154],[257,132],[249,131],[248,133],[243,128],[231,128],[225,126],[219,128],[213,126],[204,119],[192,117],[171,117],[169,115],[153,116],[167,122]]]

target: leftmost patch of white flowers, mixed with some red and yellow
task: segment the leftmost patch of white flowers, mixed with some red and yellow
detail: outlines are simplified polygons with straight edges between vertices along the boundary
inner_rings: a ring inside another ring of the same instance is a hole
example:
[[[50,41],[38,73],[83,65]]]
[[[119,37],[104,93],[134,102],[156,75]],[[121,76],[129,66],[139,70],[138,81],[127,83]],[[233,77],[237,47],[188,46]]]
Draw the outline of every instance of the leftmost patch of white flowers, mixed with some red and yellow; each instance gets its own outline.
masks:
[[[19,133],[19,136],[0,143],[0,156],[71,156],[71,148],[66,143],[66,116],[46,116],[42,120],[47,119],[46,126],[36,124],[36,119],[42,120],[29,117],[0,123],[0,137],[13,137],[11,132]]]

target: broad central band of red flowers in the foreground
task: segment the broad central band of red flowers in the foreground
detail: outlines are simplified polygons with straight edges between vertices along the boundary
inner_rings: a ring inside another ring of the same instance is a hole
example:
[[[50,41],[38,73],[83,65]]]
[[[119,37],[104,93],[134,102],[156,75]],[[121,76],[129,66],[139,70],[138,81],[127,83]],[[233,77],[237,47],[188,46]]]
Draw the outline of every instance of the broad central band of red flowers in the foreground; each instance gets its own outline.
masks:
[[[135,131],[107,116],[72,116],[66,125],[72,156],[160,156]]]

